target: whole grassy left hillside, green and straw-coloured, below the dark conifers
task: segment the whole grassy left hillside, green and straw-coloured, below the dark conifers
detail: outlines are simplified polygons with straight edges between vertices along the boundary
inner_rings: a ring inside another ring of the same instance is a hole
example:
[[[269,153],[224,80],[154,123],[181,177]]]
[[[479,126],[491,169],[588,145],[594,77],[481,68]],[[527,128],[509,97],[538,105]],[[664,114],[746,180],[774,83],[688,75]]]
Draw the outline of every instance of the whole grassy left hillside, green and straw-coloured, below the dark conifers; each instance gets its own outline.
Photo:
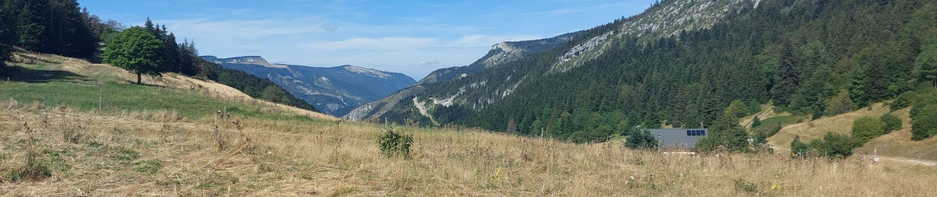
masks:
[[[67,105],[82,106],[83,109],[97,109],[98,95],[105,92],[122,93],[123,90],[133,90],[123,92],[127,95],[113,97],[134,96],[133,98],[143,99],[143,101],[158,100],[159,103],[154,106],[141,106],[136,104],[141,102],[139,100],[126,99],[118,101],[104,97],[102,98],[102,108],[112,113],[139,110],[171,110],[180,113],[183,118],[189,119],[214,114],[215,111],[211,109],[204,110],[198,109],[199,107],[175,103],[175,100],[179,100],[180,97],[165,97],[198,96],[202,99],[223,99],[229,101],[228,103],[244,103],[241,109],[247,111],[235,113],[285,111],[297,115],[329,119],[329,116],[319,112],[254,99],[242,91],[211,80],[166,73],[162,77],[143,77],[148,86],[132,88],[135,86],[131,85],[130,81],[135,81],[137,76],[109,64],[88,63],[74,58],[33,52],[17,52],[14,55],[13,60],[17,62],[11,65],[18,66],[21,69],[19,75],[11,77],[11,79],[28,83],[21,84],[23,86],[6,86],[4,89],[0,89],[0,92],[4,92],[3,95],[7,95],[9,98],[20,101],[41,100],[43,104],[49,106]],[[163,95],[159,93],[162,91],[176,92]],[[146,96],[147,94],[154,95]],[[196,102],[187,105],[199,106],[200,104]],[[223,107],[220,103],[212,106]],[[256,111],[248,109],[256,109]],[[215,110],[220,110],[220,108]]]

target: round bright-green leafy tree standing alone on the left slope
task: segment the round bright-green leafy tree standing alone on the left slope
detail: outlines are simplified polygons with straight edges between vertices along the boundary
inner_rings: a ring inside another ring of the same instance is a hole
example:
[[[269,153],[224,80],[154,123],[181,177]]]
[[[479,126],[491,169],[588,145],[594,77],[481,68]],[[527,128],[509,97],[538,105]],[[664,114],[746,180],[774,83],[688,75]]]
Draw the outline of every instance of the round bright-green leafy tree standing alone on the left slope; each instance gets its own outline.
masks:
[[[141,75],[159,75],[159,56],[163,42],[156,39],[140,26],[130,27],[114,35],[101,57],[105,63],[126,69],[137,75],[137,84],[141,84]]]

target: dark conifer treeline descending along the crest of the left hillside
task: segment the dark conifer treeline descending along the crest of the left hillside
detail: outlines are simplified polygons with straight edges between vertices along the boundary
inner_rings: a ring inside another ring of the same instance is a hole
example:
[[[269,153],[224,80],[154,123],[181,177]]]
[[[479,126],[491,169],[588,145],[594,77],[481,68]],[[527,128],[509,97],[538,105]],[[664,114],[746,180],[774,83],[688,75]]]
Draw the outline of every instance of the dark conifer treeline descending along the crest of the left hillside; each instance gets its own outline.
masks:
[[[0,75],[13,72],[4,67],[15,48],[99,62],[109,55],[106,53],[109,47],[116,48],[113,42],[127,41],[122,36],[146,36],[153,38],[150,49],[128,47],[126,50],[136,51],[122,52],[137,54],[137,60],[147,59],[147,63],[134,62],[131,60],[133,57],[111,63],[117,66],[133,64],[136,68],[128,71],[140,75],[179,73],[212,79],[254,98],[318,111],[268,79],[202,60],[193,41],[183,39],[179,42],[165,25],[147,19],[143,27],[130,29],[136,28],[142,30],[137,33],[144,34],[129,35],[126,32],[135,31],[127,31],[126,25],[117,21],[101,20],[87,8],[80,8],[75,0],[0,0],[0,71],[3,72]]]

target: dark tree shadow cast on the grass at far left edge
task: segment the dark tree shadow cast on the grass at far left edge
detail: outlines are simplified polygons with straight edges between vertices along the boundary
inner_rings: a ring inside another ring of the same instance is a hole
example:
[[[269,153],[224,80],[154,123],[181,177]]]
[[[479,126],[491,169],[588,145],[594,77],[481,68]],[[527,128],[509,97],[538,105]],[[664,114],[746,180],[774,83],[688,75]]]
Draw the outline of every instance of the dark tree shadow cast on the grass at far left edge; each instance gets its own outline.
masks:
[[[20,66],[7,66],[0,68],[0,80],[19,81],[26,83],[48,83],[52,81],[66,81],[76,83],[94,83],[97,79],[61,70],[37,70]]]

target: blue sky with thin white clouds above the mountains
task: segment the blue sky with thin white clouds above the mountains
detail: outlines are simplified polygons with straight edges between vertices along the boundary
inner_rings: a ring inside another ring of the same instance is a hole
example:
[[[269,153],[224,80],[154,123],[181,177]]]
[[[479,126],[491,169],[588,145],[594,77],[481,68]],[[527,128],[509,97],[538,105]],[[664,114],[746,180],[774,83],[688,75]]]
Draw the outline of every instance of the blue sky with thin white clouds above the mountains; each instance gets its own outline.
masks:
[[[632,16],[653,0],[79,0],[128,26],[149,17],[200,55],[351,64],[419,80],[473,63],[502,41],[547,38]]]

